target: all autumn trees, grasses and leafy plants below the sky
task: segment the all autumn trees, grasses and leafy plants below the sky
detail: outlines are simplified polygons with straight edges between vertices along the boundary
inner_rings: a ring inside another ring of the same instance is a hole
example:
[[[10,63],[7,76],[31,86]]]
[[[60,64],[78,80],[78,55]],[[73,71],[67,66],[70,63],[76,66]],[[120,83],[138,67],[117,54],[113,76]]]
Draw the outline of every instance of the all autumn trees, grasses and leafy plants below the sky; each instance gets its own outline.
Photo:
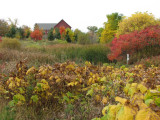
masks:
[[[159,21],[107,18],[87,33],[51,29],[48,40],[37,24],[0,21],[0,119],[159,120]]]

